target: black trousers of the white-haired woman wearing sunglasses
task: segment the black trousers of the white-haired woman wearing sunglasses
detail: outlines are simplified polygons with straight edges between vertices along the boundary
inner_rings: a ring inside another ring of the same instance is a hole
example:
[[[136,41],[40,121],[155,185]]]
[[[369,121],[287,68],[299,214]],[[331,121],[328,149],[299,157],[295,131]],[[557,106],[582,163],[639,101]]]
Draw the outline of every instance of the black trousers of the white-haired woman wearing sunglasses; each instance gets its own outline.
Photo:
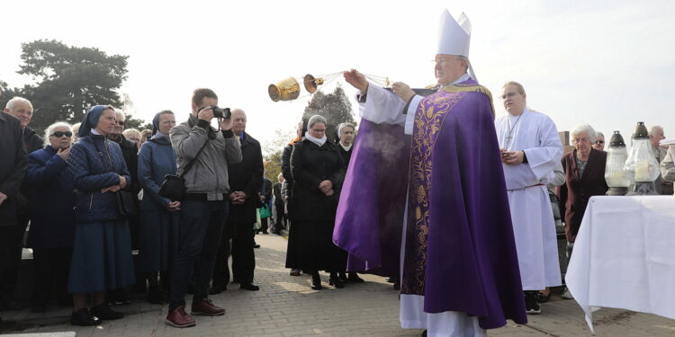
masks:
[[[67,292],[67,280],[73,249],[35,248],[32,256],[35,268],[32,304],[47,304],[53,293],[56,294],[59,303],[67,303],[70,297]]]

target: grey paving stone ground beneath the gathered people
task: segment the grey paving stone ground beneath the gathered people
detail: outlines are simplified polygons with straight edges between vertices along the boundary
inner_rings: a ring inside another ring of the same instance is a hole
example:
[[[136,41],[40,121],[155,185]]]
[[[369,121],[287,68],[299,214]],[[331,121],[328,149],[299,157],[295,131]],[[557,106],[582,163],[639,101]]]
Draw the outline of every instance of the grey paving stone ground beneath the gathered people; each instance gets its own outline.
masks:
[[[293,277],[284,268],[286,241],[277,235],[257,235],[256,283],[259,291],[240,290],[237,284],[212,296],[227,313],[219,317],[195,316],[197,326],[176,329],[164,324],[167,307],[150,305],[142,298],[116,306],[126,316],[96,327],[68,324],[70,309],[52,309],[32,314],[24,309],[2,312],[0,333],[75,332],[76,336],[419,336],[420,330],[403,330],[399,325],[398,292],[383,278],[362,275],[361,284],[345,288],[311,290],[307,275]],[[189,297],[186,298],[189,302]],[[189,303],[188,303],[189,307]],[[542,306],[543,315],[529,316],[530,323],[489,331],[490,336],[591,336],[581,308],[573,300],[554,295]],[[675,336],[675,321],[657,315],[619,309],[596,312],[597,336]]]

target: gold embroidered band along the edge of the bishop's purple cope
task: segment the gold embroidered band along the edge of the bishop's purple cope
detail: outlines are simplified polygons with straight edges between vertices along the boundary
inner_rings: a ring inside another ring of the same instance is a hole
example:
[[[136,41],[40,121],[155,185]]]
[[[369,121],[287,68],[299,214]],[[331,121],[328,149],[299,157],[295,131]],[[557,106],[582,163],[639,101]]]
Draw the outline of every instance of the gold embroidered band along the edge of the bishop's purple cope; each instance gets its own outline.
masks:
[[[447,85],[438,92],[450,93],[450,95],[432,94],[428,96],[419,104],[418,111],[415,114],[415,132],[410,148],[411,175],[410,200],[408,201],[409,205],[414,207],[414,223],[412,221],[407,223],[408,233],[413,234],[410,239],[415,240],[417,244],[415,253],[406,254],[404,262],[414,265],[413,275],[402,280],[401,289],[406,294],[424,295],[424,273],[427,264],[429,233],[429,196],[431,194],[431,156],[443,122],[455,105],[464,97],[462,93],[483,93],[488,96],[492,118],[494,119],[492,94],[482,85]],[[408,246],[408,244],[406,245]],[[409,270],[409,268],[404,268],[404,270]]]

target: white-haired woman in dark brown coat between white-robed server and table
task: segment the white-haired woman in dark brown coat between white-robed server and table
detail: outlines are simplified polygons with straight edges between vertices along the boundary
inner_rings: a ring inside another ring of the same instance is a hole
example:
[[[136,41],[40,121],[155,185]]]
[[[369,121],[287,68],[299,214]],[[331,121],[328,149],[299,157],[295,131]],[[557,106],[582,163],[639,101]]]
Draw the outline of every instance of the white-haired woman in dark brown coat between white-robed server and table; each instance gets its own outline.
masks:
[[[567,253],[572,255],[574,239],[577,237],[581,219],[589,204],[590,197],[605,195],[608,185],[605,181],[607,152],[593,148],[596,132],[588,124],[582,124],[572,130],[574,150],[563,155],[565,184],[560,186],[561,214],[564,215]],[[563,298],[572,298],[565,291]]]

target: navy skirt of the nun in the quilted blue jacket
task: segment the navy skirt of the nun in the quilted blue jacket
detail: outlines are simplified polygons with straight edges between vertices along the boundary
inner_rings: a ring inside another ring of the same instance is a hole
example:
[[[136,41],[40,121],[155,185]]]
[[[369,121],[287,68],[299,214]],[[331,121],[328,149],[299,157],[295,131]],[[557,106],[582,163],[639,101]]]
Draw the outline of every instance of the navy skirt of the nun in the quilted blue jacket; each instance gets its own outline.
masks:
[[[124,288],[133,283],[127,220],[76,224],[68,292],[90,293]]]

